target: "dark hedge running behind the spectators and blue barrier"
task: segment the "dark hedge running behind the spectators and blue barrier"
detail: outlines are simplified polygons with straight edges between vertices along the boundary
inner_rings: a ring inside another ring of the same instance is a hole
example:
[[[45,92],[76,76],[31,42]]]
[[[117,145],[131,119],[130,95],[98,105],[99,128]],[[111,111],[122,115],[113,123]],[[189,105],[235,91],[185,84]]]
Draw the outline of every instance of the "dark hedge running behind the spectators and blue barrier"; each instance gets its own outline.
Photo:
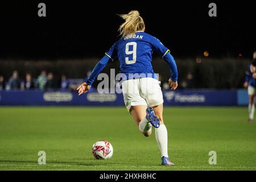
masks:
[[[52,72],[56,81],[60,81],[60,76],[65,73],[67,78],[84,78],[86,71],[92,71],[101,57],[92,59],[65,59],[65,60],[1,60],[0,75],[8,81],[14,70],[19,72],[20,78],[25,78],[26,73],[31,73],[37,78],[42,69]],[[194,58],[176,58],[179,69],[179,88],[183,82],[187,83],[184,89],[207,88],[207,89],[237,89],[243,87],[245,81],[245,71],[251,60],[223,57],[214,59],[202,57],[200,63]],[[72,64],[71,64],[72,63]],[[220,66],[221,65],[221,66]],[[152,66],[155,73],[161,76],[161,82],[167,82],[170,78],[170,69],[162,58],[153,57]],[[110,69],[115,69],[119,73],[119,61],[106,65],[102,71],[110,76]],[[163,69],[164,68],[164,69]],[[230,72],[227,72],[229,70]],[[182,74],[181,74],[182,73]],[[188,73],[191,73],[192,80],[188,80]],[[225,78],[225,79],[224,79]],[[95,81],[96,86],[100,81]]]

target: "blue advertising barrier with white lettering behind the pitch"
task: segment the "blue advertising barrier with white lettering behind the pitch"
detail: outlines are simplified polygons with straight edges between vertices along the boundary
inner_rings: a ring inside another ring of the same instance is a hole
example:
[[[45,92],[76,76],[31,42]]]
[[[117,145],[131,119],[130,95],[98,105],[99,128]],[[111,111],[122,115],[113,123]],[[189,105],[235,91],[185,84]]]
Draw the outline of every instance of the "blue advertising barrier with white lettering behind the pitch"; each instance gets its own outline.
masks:
[[[165,106],[247,105],[246,90],[163,91]],[[122,94],[77,92],[0,91],[0,106],[124,106]]]

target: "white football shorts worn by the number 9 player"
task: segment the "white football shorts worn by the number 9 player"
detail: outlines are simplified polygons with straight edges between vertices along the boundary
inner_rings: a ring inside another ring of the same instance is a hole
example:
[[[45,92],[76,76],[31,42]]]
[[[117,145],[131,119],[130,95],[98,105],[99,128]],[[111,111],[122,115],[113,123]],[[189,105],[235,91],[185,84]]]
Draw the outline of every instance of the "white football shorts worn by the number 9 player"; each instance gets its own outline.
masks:
[[[127,110],[131,106],[158,106],[163,104],[160,81],[155,78],[137,78],[122,82],[123,100]]]

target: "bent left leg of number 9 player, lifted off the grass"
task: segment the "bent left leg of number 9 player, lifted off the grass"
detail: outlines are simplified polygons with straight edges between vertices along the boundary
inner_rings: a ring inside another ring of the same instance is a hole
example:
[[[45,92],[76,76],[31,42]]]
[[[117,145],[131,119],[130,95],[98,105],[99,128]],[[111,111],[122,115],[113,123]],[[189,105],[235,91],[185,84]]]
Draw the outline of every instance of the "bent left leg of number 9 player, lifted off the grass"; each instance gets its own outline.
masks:
[[[146,109],[147,105],[131,106],[130,113],[139,131],[141,131],[145,137],[149,137],[152,134],[152,125],[146,119]]]

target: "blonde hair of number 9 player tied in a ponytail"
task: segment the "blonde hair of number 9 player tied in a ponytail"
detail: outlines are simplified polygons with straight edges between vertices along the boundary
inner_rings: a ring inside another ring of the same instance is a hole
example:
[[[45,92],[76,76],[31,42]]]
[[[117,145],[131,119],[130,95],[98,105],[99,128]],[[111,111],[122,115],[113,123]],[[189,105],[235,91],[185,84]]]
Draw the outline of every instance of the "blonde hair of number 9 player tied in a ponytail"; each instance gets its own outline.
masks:
[[[141,31],[145,27],[144,21],[139,15],[139,11],[130,11],[128,14],[119,15],[125,19],[125,22],[121,24],[118,31],[120,35],[134,35],[136,31]]]

